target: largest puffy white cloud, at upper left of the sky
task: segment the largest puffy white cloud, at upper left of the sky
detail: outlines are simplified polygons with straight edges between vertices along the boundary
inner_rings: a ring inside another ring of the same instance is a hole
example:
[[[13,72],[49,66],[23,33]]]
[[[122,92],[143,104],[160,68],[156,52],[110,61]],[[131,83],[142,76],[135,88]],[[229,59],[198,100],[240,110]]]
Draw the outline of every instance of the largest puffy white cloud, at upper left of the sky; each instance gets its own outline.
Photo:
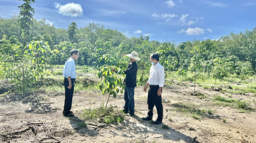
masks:
[[[59,3],[54,3],[55,7],[58,9],[60,14],[64,16],[78,17],[82,15],[82,6],[80,4],[75,3],[67,3],[65,5],[61,5]]]

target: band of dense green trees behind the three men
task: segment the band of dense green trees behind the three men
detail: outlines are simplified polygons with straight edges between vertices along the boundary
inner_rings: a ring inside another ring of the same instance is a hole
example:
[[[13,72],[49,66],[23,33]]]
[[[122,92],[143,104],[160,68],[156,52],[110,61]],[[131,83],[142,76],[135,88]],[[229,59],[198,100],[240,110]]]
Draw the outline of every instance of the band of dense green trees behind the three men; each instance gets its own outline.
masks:
[[[123,70],[129,63],[126,54],[136,51],[141,58],[137,61],[139,81],[147,78],[153,52],[160,54],[167,77],[168,71],[177,71],[183,77],[190,72],[195,81],[202,77],[223,80],[230,74],[243,80],[255,74],[256,27],[218,40],[161,43],[150,41],[149,36],[126,37],[116,29],[95,23],[77,27],[72,22],[68,29],[56,28],[46,24],[45,19],[33,19],[30,4],[35,1],[24,2],[18,6],[18,16],[0,18],[0,77],[19,86],[38,83],[47,66],[63,65],[72,49],[80,51],[78,65],[116,66]]]

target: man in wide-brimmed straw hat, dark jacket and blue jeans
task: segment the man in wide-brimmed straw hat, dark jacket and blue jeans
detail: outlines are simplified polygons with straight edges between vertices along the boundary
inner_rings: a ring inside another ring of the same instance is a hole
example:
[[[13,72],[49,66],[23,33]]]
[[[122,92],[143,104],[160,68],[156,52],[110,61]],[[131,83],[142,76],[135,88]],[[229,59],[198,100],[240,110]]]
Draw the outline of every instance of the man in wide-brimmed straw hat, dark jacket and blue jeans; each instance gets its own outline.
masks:
[[[126,74],[126,78],[124,79],[123,83],[126,85],[124,89],[124,106],[123,112],[128,113],[130,116],[134,116],[134,89],[137,86],[136,84],[136,77],[137,77],[137,70],[138,66],[136,61],[140,61],[138,57],[138,53],[133,51],[131,54],[127,55],[130,57],[130,63],[127,67],[127,70],[123,71]],[[113,69],[114,72],[115,69]]]

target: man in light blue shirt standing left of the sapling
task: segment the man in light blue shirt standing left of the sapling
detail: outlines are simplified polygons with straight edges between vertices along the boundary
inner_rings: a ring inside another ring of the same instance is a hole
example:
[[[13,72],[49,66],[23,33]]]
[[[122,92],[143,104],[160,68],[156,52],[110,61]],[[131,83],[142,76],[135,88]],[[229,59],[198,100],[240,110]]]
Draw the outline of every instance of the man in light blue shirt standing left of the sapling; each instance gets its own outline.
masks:
[[[63,69],[63,77],[64,77],[64,87],[65,87],[65,102],[63,115],[64,116],[74,116],[73,112],[70,111],[72,107],[72,99],[74,93],[74,81],[77,77],[75,73],[75,60],[79,57],[78,50],[71,50],[71,57],[67,60]]]

